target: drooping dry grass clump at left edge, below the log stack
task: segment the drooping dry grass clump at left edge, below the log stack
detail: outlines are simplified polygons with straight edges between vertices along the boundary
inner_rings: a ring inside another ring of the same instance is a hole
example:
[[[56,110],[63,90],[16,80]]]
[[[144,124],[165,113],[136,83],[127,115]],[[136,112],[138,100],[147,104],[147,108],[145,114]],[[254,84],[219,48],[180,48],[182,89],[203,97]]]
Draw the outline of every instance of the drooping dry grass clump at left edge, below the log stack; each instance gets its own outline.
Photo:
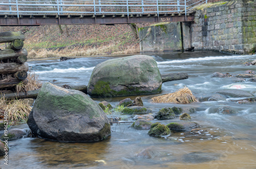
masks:
[[[31,107],[28,103],[24,103],[21,100],[7,101],[4,96],[0,98],[0,109],[1,113],[8,113],[8,122],[16,124],[23,122],[31,112]]]

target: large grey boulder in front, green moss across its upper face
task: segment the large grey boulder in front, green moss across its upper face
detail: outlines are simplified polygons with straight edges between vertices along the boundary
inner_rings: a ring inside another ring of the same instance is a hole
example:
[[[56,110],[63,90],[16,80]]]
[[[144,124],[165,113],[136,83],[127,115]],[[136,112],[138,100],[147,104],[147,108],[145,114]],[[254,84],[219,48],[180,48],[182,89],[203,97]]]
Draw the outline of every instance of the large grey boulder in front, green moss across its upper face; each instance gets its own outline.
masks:
[[[108,117],[87,94],[42,85],[27,121],[34,135],[58,141],[97,141],[111,134]]]

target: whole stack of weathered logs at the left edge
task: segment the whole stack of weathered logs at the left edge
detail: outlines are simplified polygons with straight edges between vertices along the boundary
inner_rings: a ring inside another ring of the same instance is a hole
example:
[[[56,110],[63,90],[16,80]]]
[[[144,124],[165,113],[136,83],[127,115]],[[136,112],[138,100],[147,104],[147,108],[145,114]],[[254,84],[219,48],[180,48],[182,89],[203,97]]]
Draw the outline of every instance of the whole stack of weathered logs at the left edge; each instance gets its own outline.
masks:
[[[0,90],[27,82],[28,52],[23,48],[24,40],[22,32],[0,32],[0,43],[9,43],[6,49],[0,50]]]

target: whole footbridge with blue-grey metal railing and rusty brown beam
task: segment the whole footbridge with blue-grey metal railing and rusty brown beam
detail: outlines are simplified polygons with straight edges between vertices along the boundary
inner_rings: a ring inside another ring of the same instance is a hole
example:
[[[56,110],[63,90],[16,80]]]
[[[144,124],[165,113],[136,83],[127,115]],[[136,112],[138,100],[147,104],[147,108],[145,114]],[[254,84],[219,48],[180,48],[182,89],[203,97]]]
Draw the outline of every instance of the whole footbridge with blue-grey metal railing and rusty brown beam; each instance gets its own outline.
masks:
[[[2,0],[0,26],[193,21],[207,0]]]

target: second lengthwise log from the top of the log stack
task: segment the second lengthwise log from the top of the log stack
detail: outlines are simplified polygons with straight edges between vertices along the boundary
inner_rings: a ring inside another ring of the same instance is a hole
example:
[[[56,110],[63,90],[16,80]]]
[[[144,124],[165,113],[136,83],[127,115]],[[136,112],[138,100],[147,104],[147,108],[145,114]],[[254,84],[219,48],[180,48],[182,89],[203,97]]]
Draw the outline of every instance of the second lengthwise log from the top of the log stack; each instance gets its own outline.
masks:
[[[14,51],[12,49],[2,50],[0,51],[0,60],[3,59],[16,59],[19,56],[28,56],[28,52],[26,49],[22,49],[19,51]]]

